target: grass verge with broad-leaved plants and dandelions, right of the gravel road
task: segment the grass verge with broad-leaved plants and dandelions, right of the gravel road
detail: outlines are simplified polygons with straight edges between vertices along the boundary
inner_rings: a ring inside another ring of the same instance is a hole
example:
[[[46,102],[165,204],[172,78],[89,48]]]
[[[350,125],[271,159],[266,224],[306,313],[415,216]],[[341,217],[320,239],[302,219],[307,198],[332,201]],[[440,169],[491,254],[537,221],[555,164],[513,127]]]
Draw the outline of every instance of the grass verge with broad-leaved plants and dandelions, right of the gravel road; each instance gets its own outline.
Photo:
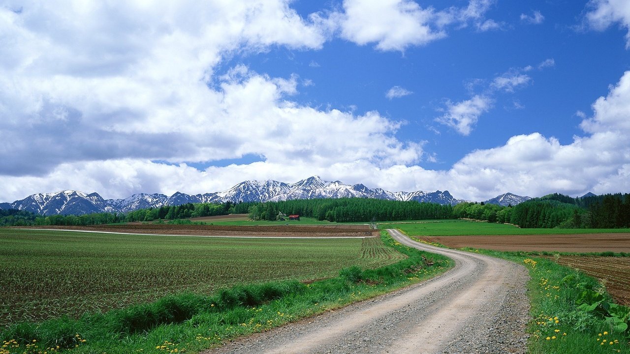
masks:
[[[620,324],[627,324],[630,309],[613,304],[595,278],[529,252],[465,250],[512,260],[529,269],[530,353],[630,353],[629,331]]]

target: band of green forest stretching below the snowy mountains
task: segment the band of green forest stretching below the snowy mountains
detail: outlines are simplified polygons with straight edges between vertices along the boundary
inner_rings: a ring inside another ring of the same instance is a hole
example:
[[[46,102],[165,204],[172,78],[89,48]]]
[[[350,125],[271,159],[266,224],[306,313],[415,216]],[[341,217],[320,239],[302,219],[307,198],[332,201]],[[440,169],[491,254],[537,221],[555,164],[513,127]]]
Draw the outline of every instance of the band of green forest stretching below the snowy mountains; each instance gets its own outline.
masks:
[[[227,214],[249,214],[252,220],[277,220],[298,214],[330,222],[474,219],[510,223],[524,228],[630,227],[630,194],[571,198],[558,193],[534,198],[514,207],[464,202],[455,206],[369,198],[287,200],[249,203],[187,203],[128,213],[37,215],[24,210],[0,210],[0,226],[98,225],[117,222],[181,220]]]

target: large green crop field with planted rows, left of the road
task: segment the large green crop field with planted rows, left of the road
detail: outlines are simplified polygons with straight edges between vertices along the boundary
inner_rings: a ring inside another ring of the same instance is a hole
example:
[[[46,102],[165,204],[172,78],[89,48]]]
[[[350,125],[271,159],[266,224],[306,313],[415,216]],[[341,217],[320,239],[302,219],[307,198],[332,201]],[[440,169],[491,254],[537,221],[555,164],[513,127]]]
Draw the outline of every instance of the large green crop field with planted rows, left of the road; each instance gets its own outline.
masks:
[[[0,327],[179,292],[331,277],[405,258],[379,238],[256,239],[0,229]]]

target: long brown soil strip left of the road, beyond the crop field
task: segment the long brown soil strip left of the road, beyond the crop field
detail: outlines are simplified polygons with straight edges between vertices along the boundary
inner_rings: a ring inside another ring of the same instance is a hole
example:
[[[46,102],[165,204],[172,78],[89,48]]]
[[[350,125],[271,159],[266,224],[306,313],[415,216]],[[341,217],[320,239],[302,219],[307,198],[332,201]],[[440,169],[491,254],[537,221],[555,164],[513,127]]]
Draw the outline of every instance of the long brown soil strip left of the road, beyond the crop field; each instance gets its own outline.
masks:
[[[30,226],[30,229],[123,232],[193,236],[260,236],[260,237],[377,237],[378,230],[367,225],[333,226],[216,226],[169,224],[120,224],[92,226]]]

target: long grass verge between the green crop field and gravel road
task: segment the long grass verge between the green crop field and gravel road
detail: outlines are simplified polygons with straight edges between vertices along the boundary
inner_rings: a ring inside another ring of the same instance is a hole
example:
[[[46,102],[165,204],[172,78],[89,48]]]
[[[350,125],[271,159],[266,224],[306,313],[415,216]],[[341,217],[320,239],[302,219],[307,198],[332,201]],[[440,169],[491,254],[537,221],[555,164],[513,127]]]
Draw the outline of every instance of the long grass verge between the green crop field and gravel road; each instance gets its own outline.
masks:
[[[195,353],[418,283],[453,266],[449,258],[396,243],[385,231],[381,239],[408,258],[376,269],[344,268],[338,277],[311,284],[239,285],[212,295],[171,295],[80,319],[14,324],[0,333],[0,354]]]

